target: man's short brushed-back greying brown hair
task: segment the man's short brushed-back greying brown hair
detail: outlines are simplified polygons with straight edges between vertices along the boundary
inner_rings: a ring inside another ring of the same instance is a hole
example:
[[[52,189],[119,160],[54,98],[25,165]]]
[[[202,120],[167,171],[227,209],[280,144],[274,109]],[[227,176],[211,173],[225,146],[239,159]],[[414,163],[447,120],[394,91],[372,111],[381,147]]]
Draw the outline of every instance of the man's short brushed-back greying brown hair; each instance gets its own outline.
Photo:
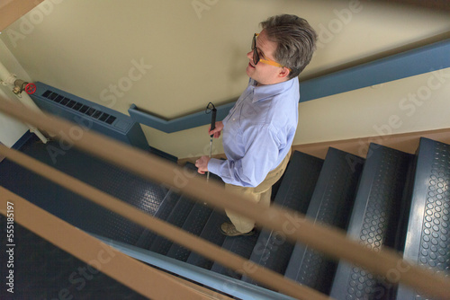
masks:
[[[280,14],[261,22],[267,38],[277,44],[276,61],[291,68],[289,79],[300,75],[316,49],[317,33],[304,19]]]

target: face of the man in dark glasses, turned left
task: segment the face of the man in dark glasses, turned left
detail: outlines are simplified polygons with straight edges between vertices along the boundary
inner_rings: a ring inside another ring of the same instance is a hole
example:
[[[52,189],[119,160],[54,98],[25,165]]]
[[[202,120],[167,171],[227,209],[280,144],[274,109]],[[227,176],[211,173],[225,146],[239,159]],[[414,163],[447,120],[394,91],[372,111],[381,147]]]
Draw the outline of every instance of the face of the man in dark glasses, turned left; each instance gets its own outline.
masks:
[[[276,46],[274,41],[267,40],[266,31],[261,31],[257,36],[257,51],[260,58],[275,61]],[[247,75],[256,80],[258,84],[278,84],[287,79],[289,71],[285,67],[271,66],[262,62],[255,65],[253,50],[247,53],[247,57],[250,60],[246,70]]]

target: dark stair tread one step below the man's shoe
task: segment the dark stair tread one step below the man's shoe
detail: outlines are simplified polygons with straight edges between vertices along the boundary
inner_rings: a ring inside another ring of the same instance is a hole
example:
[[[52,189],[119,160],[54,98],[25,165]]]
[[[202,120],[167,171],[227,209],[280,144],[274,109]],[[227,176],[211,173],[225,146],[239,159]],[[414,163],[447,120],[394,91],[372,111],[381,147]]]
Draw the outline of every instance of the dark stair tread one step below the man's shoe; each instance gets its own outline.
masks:
[[[202,229],[208,221],[209,216],[211,216],[211,212],[211,207],[207,207],[203,203],[196,202],[193,206],[193,209],[191,210],[191,213],[184,221],[182,229],[190,234],[202,234]],[[186,261],[190,253],[190,250],[174,243],[170,247],[169,251],[167,251],[167,256],[176,260]]]

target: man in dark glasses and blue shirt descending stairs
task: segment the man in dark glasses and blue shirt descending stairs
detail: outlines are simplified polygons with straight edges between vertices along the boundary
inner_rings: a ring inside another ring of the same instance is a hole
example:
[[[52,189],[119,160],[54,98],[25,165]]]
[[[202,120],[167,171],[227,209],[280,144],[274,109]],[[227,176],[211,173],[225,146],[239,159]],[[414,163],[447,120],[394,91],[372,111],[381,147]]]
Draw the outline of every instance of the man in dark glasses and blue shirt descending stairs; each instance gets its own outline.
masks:
[[[198,172],[212,172],[233,190],[270,205],[272,186],[284,173],[298,123],[297,76],[315,50],[316,32],[295,15],[277,15],[261,22],[249,59],[247,89],[228,116],[208,134],[220,137],[228,160],[202,156]],[[253,234],[255,222],[226,211],[231,223],[220,226],[229,236]]]

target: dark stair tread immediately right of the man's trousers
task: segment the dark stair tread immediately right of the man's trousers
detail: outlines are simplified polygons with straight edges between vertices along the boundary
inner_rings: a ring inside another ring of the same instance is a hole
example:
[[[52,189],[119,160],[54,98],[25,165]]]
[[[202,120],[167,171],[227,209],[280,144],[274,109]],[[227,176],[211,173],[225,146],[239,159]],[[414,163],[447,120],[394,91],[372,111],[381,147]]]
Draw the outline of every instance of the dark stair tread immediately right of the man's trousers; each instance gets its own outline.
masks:
[[[322,163],[323,160],[320,158],[295,151],[284,172],[274,203],[305,214],[319,178]],[[293,243],[286,242],[284,233],[263,230],[250,260],[284,274],[292,251]],[[256,281],[246,276],[242,280],[258,285]]]

